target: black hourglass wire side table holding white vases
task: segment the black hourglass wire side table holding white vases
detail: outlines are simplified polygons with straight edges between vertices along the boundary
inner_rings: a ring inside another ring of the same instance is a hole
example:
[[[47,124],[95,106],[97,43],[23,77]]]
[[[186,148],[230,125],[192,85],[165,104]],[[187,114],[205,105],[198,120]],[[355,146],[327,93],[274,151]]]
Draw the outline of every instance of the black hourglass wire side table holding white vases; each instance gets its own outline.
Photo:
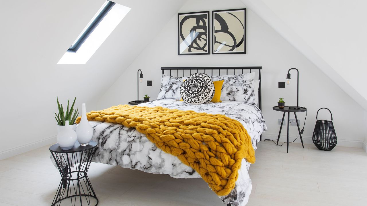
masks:
[[[61,175],[61,181],[51,206],[60,205],[61,201],[68,198],[72,206],[98,205],[98,198],[87,175],[96,149],[97,142],[95,141],[91,141],[87,146],[80,146],[76,141],[70,150],[62,150],[59,144],[50,147],[51,155]]]

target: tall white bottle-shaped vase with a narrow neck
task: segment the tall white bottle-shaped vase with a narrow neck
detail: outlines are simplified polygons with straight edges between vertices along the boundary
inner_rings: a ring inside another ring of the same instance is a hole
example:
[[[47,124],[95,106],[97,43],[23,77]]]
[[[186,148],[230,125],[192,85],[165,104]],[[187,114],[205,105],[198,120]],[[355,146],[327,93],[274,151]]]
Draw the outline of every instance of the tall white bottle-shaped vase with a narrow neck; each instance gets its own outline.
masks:
[[[93,128],[89,124],[86,114],[86,104],[83,103],[81,106],[81,120],[76,130],[77,139],[81,146],[86,146],[90,143],[93,136]]]

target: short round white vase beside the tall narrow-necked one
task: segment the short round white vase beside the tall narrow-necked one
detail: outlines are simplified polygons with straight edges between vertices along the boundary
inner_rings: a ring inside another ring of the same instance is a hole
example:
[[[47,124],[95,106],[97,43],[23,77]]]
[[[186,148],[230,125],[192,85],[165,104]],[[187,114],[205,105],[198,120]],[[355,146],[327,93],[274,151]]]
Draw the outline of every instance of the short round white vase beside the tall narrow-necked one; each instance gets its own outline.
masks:
[[[70,126],[69,121],[65,121],[65,126],[58,125],[57,143],[63,150],[70,150],[76,142],[76,133]]]

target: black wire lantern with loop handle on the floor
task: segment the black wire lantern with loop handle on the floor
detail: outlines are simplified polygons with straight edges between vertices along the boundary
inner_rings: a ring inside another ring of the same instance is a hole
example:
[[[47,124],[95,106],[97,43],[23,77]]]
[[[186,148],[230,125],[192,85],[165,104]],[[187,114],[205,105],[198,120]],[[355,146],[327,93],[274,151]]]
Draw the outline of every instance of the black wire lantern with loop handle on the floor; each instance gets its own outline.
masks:
[[[316,125],[315,129],[313,130],[312,141],[313,144],[315,144],[315,146],[319,148],[319,150],[330,151],[334,149],[334,147],[337,145],[338,142],[337,135],[335,134],[335,129],[333,125],[333,114],[331,114],[331,111],[329,110],[331,114],[331,121],[317,120],[317,115],[319,114],[319,111],[321,109],[329,110],[328,108],[325,107],[317,110]]]

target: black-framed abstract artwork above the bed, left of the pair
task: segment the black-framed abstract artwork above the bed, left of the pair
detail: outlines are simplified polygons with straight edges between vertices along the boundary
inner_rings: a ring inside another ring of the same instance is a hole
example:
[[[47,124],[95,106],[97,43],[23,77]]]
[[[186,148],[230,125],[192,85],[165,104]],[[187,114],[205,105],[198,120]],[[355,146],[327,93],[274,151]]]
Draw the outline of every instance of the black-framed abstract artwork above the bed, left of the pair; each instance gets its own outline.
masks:
[[[178,14],[178,55],[209,52],[209,11]]]

